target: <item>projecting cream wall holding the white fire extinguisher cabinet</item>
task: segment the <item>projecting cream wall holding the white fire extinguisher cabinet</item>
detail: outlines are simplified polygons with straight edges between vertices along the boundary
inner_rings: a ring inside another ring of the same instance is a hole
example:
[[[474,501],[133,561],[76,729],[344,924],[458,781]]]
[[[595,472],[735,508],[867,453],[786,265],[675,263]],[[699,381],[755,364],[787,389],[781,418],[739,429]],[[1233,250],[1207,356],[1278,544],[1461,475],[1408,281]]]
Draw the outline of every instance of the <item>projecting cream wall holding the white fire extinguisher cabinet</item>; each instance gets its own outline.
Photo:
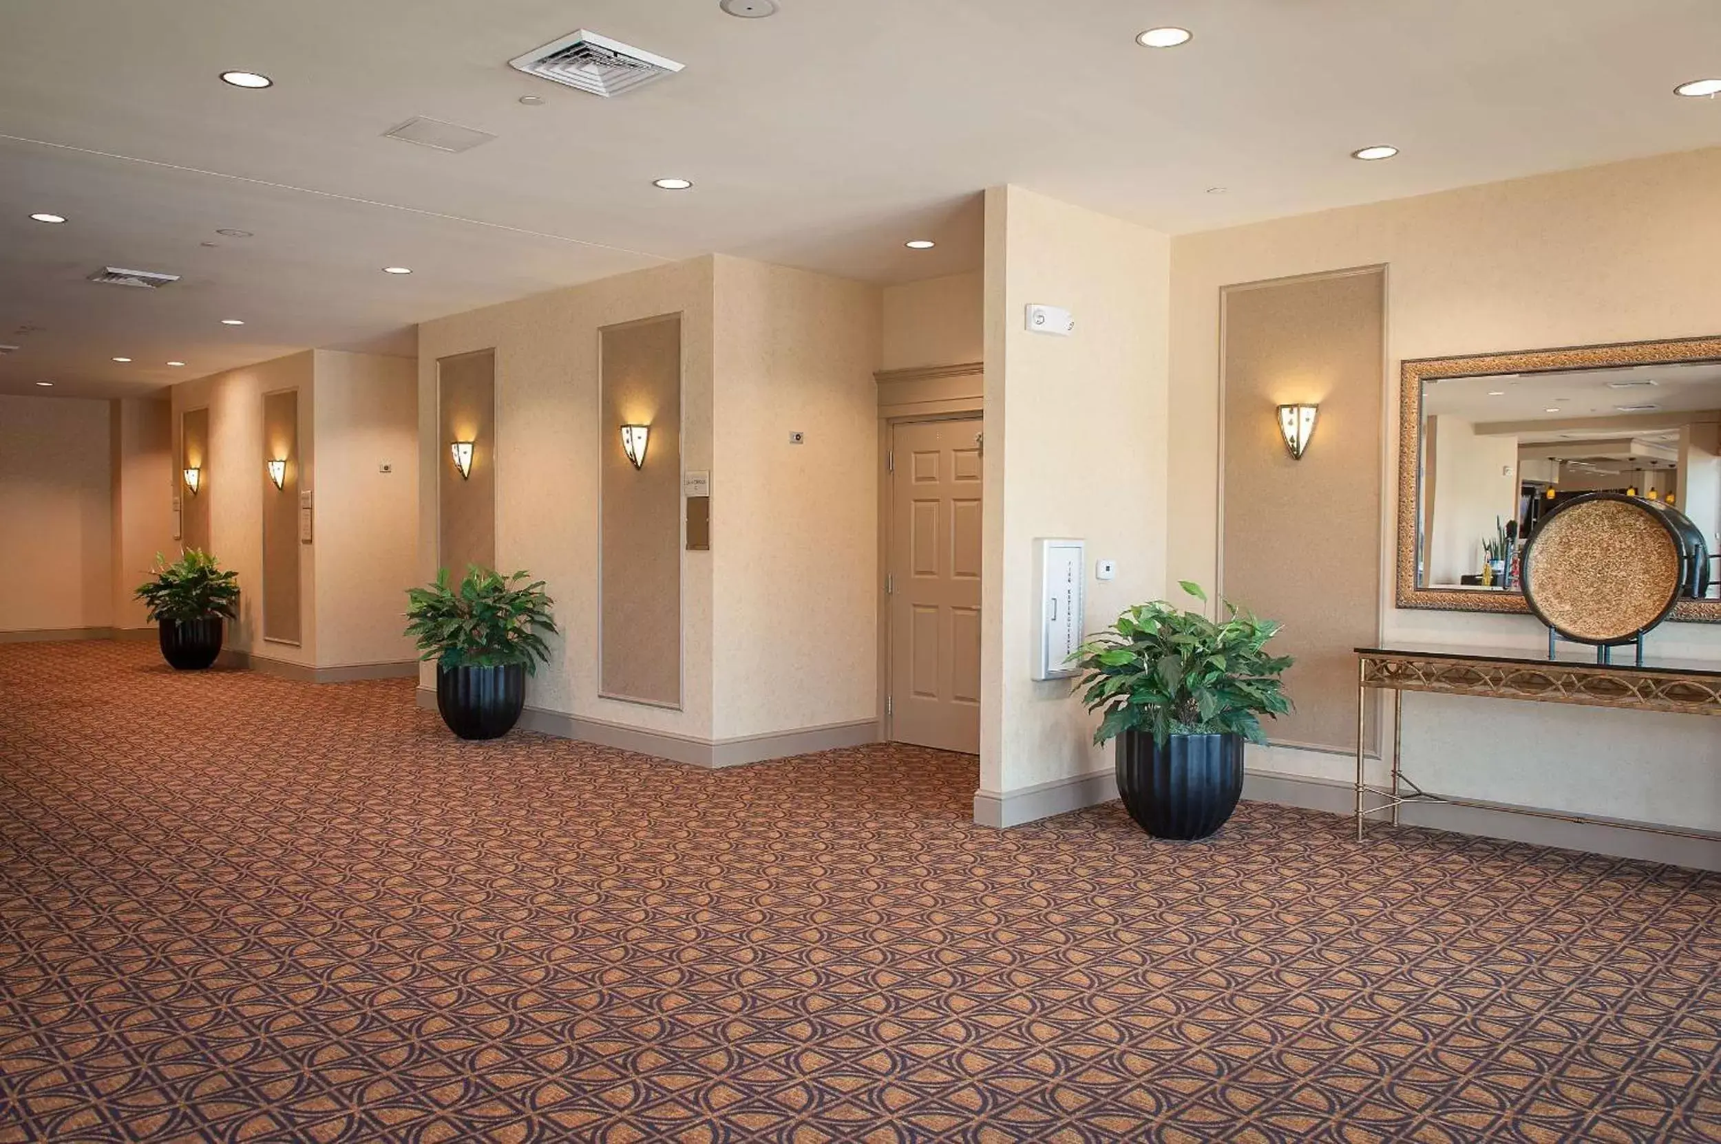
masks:
[[[1169,258],[1155,231],[1021,188],[986,193],[983,791],[1110,766],[1070,683],[1029,678],[1033,542],[1088,540],[1089,630],[1165,595]],[[1072,310],[1076,334],[1029,334],[1027,303]],[[1098,581],[1107,557],[1117,578]]]

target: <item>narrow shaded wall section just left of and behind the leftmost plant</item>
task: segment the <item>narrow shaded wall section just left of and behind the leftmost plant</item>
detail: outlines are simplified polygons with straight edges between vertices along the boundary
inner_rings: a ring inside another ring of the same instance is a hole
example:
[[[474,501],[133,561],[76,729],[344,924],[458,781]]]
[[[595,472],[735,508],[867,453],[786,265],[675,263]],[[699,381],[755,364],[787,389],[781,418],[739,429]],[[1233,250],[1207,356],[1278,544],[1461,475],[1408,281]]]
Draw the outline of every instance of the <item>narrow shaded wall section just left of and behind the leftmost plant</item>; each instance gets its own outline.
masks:
[[[174,421],[165,397],[108,403],[110,502],[114,506],[115,628],[146,628],[146,609],[133,592],[150,578],[157,556],[172,557]]]

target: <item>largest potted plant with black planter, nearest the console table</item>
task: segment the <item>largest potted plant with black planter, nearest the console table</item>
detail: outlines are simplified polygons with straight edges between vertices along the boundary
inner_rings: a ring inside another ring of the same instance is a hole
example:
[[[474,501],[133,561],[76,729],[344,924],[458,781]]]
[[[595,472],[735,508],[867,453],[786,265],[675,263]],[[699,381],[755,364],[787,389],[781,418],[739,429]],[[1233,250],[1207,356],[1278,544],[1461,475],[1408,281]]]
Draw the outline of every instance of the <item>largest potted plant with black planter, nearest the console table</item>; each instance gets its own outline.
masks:
[[[1187,580],[1182,590],[1206,604]],[[1083,704],[1103,710],[1093,741],[1117,740],[1117,793],[1155,838],[1206,838],[1243,795],[1243,743],[1261,743],[1260,716],[1291,710],[1270,655],[1270,619],[1225,604],[1225,619],[1138,604],[1076,649]]]

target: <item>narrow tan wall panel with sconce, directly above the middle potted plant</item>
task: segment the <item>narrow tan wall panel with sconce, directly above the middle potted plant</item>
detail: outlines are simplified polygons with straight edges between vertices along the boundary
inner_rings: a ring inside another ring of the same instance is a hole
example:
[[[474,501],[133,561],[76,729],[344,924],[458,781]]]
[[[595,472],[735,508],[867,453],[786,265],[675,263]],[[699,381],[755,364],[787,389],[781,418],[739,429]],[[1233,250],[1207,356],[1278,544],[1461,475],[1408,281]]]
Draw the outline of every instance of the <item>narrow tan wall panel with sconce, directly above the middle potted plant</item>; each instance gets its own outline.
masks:
[[[470,564],[496,568],[496,351],[437,361],[437,563],[456,581]],[[451,446],[472,442],[472,471]]]

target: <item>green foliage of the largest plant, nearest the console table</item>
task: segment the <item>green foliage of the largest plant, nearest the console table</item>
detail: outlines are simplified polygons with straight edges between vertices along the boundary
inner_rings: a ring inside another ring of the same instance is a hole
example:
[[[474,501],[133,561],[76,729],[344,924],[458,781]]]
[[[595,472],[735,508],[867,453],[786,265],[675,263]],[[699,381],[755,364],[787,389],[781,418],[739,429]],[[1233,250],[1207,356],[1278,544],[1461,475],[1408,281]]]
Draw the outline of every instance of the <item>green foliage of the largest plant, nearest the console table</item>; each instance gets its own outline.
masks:
[[[1182,590],[1206,604],[1200,585],[1184,580]],[[1165,600],[1126,609],[1070,655],[1083,673],[1083,704],[1105,712],[1093,741],[1129,729],[1151,731],[1160,745],[1215,731],[1265,741],[1260,716],[1291,710],[1279,676],[1292,661],[1265,650],[1279,628],[1231,602],[1224,621]]]

